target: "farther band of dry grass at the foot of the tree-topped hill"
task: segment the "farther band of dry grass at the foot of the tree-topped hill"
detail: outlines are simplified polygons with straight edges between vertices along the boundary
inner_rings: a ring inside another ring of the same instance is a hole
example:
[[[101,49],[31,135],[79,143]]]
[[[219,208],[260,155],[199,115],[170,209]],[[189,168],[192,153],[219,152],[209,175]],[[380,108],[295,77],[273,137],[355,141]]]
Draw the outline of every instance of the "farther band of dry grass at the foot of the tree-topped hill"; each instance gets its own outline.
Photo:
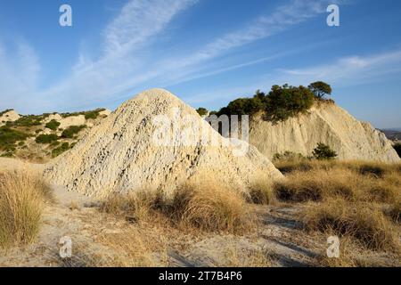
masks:
[[[350,201],[370,201],[392,204],[399,199],[401,175],[389,170],[381,176],[361,174],[360,167],[350,169],[346,164],[315,163],[307,172],[294,171],[287,179],[274,184],[276,197],[283,201],[322,201],[342,197]]]

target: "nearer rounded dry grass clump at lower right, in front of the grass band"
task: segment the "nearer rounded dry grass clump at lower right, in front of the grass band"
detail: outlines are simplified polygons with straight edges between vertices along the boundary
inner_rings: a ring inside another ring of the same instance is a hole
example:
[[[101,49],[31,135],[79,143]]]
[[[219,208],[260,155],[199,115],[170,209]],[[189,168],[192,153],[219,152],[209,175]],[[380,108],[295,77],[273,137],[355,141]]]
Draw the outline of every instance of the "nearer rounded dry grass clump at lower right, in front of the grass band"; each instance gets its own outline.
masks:
[[[303,222],[308,230],[334,232],[352,237],[366,248],[398,251],[398,232],[381,209],[372,204],[350,203],[345,199],[326,199],[307,207]]]

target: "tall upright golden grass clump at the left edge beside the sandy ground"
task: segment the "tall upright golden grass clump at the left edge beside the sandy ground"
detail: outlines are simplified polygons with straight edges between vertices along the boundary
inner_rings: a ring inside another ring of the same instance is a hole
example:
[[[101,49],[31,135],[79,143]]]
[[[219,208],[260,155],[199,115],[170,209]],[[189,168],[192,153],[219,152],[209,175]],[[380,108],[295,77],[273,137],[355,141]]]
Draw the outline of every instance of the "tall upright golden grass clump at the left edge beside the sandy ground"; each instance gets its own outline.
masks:
[[[27,169],[0,173],[0,247],[29,244],[37,237],[46,199],[51,191]]]

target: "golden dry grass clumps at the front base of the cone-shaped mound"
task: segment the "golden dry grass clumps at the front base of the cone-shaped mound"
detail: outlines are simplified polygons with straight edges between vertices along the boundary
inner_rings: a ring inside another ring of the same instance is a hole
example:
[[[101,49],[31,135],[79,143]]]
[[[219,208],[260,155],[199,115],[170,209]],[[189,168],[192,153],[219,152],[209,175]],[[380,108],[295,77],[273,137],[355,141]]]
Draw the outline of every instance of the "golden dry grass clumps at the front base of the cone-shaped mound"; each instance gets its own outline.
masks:
[[[210,178],[184,183],[169,197],[151,190],[111,195],[101,210],[132,222],[163,216],[176,226],[206,232],[243,232],[253,221],[241,193]]]

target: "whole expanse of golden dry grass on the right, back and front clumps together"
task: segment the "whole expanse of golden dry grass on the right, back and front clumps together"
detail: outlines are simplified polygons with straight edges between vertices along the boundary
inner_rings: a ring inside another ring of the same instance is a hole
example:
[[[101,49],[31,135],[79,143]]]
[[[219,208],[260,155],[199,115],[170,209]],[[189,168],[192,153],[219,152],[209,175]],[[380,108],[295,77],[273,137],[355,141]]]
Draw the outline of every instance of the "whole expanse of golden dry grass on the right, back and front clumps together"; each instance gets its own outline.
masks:
[[[307,229],[399,252],[399,164],[290,161],[280,166],[287,175],[274,183],[274,195],[285,202],[309,203],[302,215]]]

